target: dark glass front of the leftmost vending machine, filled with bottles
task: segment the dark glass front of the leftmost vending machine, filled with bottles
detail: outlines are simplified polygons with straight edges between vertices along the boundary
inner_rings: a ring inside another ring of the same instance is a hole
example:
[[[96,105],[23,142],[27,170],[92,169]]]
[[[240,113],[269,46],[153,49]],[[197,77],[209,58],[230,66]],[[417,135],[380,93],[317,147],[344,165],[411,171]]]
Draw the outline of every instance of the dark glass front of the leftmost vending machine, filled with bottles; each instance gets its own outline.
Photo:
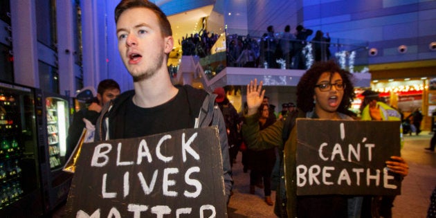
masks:
[[[0,82],[0,217],[42,215],[37,169],[33,89]]]

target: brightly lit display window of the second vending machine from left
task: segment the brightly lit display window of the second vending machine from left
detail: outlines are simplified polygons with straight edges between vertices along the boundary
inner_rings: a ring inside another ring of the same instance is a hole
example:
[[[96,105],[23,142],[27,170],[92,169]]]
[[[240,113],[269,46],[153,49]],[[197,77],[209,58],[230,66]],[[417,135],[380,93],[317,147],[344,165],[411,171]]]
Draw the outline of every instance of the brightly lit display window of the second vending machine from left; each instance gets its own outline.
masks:
[[[48,161],[54,170],[66,161],[66,133],[69,127],[69,104],[62,98],[46,98]]]

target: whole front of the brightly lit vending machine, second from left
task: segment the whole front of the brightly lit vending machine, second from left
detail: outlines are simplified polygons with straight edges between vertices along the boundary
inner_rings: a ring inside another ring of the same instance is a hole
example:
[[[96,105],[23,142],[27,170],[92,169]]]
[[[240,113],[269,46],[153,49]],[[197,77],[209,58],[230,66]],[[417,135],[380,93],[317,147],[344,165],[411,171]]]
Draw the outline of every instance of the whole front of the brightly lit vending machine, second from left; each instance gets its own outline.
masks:
[[[69,128],[69,98],[35,90],[44,212],[51,212],[66,200],[71,174],[62,171],[66,159]]]

